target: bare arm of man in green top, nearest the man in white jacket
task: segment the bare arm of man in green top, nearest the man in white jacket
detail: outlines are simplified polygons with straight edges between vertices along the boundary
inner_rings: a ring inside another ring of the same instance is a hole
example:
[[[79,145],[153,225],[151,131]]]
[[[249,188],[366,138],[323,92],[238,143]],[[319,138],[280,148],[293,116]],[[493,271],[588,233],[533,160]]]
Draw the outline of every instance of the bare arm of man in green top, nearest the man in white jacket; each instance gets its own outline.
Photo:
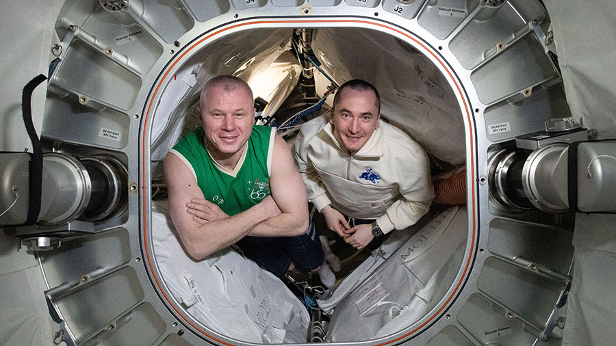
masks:
[[[295,168],[289,146],[282,137],[274,138],[270,189],[282,212],[266,219],[250,235],[257,237],[291,237],[302,235],[308,228],[306,186]]]

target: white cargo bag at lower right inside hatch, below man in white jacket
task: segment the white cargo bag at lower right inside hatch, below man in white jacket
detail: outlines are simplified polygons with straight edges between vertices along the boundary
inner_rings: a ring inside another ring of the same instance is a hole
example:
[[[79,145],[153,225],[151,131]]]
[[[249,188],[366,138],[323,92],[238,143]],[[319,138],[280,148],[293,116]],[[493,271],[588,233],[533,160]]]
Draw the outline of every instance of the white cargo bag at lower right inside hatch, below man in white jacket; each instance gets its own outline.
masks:
[[[368,258],[358,267],[362,270],[346,278],[329,300],[319,301],[331,312],[326,341],[365,341],[392,334],[433,308],[459,270],[466,214],[466,209],[453,207],[401,245],[383,243],[381,250],[397,247],[391,254],[383,251],[383,256]],[[405,231],[394,235],[401,232]]]

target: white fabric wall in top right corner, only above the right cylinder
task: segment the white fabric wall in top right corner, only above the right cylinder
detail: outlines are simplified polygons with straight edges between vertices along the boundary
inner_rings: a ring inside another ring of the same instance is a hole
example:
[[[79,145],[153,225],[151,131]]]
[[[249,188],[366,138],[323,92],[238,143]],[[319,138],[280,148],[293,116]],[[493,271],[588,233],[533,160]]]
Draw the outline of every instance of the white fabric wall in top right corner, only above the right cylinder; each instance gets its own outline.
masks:
[[[574,118],[616,138],[616,2],[544,0]]]

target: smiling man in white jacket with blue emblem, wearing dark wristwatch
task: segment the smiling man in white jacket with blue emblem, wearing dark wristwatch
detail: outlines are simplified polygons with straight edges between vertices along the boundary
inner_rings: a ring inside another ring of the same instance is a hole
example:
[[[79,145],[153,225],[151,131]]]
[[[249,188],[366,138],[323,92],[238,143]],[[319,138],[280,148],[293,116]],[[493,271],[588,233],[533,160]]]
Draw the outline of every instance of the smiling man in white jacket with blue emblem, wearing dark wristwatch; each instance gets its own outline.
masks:
[[[341,85],[331,119],[303,124],[293,152],[309,201],[358,249],[415,224],[434,198],[426,153],[381,120],[378,92],[365,81]]]

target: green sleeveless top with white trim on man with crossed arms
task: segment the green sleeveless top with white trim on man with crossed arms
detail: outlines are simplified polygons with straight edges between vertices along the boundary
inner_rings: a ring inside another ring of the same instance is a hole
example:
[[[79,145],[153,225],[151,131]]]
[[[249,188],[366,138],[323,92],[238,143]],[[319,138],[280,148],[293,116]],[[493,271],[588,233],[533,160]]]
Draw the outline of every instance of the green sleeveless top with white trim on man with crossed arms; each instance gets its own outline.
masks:
[[[273,131],[272,127],[253,126],[246,157],[238,163],[241,167],[235,176],[216,167],[203,145],[201,128],[181,139],[172,150],[192,168],[205,199],[218,204],[227,215],[235,215],[270,195],[268,157],[272,155]]]

